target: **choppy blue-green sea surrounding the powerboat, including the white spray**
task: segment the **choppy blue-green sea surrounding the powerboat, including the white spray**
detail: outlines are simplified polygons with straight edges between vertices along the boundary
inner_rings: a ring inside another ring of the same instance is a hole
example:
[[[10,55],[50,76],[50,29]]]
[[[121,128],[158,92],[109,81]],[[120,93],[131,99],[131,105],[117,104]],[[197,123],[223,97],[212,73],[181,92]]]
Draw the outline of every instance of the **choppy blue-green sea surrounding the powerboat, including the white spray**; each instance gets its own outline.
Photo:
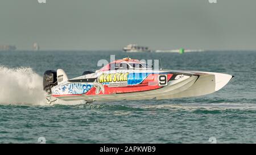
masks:
[[[110,55],[160,59],[163,69],[233,74],[203,97],[117,102],[44,100],[42,75],[62,68],[69,78],[96,70]],[[0,52],[0,143],[256,143],[256,51],[123,53]]]

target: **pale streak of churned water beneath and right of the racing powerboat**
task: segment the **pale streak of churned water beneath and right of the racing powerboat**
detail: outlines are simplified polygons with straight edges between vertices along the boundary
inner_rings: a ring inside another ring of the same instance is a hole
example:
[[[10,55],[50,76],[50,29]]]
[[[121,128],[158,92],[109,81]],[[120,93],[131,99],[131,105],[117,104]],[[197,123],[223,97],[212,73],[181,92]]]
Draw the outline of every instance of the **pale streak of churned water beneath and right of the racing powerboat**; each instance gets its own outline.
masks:
[[[160,103],[160,104],[139,103],[138,104],[138,101],[135,101],[135,100],[129,103],[94,102],[90,104],[80,104],[80,105],[69,106],[69,107],[79,108],[84,110],[97,110],[97,112],[99,112],[100,114],[111,114],[111,115],[129,115],[129,114],[132,114],[133,112],[141,113],[143,111],[147,111],[149,112],[148,114],[152,114],[152,115],[162,114],[163,111],[168,112],[168,114],[171,114],[171,113],[179,114],[179,112],[218,114],[220,112],[229,112],[229,111],[240,111],[240,112],[250,111],[254,113],[256,111],[256,104],[254,103]]]

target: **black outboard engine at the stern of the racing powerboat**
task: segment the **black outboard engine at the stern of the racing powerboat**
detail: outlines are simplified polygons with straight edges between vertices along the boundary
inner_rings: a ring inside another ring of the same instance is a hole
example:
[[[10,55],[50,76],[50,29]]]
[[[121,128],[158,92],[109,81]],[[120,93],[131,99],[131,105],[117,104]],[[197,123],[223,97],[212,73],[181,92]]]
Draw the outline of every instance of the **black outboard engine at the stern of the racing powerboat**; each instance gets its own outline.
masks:
[[[51,88],[57,85],[57,72],[55,70],[46,70],[43,76],[43,89],[51,93]]]

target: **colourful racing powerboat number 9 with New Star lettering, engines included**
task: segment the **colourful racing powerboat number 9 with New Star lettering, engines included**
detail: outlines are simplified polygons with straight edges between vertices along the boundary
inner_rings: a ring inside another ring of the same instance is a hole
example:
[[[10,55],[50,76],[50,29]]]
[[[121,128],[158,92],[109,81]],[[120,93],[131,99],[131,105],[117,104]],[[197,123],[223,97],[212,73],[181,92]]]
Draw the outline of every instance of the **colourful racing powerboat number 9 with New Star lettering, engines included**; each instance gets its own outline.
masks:
[[[86,102],[172,99],[213,93],[233,77],[213,72],[154,70],[144,61],[123,58],[72,79],[68,79],[63,69],[47,70],[43,89],[49,103],[57,99]]]

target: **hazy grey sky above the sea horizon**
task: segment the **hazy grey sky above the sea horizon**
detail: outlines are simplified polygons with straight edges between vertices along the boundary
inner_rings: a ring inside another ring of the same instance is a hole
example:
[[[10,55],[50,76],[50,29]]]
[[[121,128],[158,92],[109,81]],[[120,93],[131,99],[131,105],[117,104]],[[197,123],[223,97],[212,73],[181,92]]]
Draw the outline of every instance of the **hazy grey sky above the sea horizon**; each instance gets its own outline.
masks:
[[[256,49],[255,0],[1,0],[0,44],[18,49]]]

